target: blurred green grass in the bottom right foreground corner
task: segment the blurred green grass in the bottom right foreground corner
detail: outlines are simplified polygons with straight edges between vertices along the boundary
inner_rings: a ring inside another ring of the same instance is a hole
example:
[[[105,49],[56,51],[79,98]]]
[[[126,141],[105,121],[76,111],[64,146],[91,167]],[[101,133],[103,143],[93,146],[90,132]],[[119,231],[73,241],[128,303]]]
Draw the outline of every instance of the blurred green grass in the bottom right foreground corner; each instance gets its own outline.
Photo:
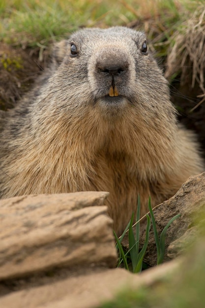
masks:
[[[180,267],[172,274],[138,289],[125,286],[113,301],[98,308],[204,308],[205,224],[201,231],[203,235],[189,248]]]

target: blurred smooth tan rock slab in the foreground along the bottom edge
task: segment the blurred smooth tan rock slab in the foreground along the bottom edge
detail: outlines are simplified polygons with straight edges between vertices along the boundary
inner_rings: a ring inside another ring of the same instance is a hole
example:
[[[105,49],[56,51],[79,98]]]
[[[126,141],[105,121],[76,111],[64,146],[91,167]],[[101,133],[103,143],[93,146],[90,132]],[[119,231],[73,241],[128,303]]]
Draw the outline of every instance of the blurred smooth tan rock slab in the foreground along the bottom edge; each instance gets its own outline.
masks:
[[[13,292],[0,298],[2,308],[96,308],[116,293],[153,285],[175,273],[180,262],[155,267],[137,275],[124,269],[93,269],[87,275],[68,277],[55,283]]]

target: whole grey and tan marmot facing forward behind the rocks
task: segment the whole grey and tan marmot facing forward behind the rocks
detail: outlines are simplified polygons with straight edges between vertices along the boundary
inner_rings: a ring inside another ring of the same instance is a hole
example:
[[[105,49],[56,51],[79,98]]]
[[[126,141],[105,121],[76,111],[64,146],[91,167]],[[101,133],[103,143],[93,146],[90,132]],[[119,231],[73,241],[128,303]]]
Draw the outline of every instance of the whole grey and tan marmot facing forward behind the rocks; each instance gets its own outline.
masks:
[[[176,120],[146,36],[126,27],[77,31],[0,135],[0,197],[109,191],[114,229],[204,171],[195,136]]]

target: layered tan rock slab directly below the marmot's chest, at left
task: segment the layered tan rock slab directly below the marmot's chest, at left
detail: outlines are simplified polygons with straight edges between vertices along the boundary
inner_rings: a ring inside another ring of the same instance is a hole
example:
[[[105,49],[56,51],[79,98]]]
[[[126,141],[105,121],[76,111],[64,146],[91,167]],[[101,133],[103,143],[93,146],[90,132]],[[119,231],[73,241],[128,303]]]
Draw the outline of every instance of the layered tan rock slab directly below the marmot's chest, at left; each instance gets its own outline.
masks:
[[[107,192],[0,200],[0,280],[88,264],[115,267]]]

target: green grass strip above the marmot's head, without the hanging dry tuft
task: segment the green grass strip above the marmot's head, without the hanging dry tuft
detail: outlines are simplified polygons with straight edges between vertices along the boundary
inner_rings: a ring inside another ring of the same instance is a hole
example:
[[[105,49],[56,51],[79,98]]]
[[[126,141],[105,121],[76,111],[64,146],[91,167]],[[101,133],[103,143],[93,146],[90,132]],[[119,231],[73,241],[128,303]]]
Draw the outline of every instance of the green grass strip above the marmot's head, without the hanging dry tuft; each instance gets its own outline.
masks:
[[[47,46],[82,26],[127,25],[137,20],[136,26],[150,38],[160,35],[159,46],[202,5],[203,0],[1,0],[0,40],[24,47]],[[164,53],[166,46],[160,55]]]

